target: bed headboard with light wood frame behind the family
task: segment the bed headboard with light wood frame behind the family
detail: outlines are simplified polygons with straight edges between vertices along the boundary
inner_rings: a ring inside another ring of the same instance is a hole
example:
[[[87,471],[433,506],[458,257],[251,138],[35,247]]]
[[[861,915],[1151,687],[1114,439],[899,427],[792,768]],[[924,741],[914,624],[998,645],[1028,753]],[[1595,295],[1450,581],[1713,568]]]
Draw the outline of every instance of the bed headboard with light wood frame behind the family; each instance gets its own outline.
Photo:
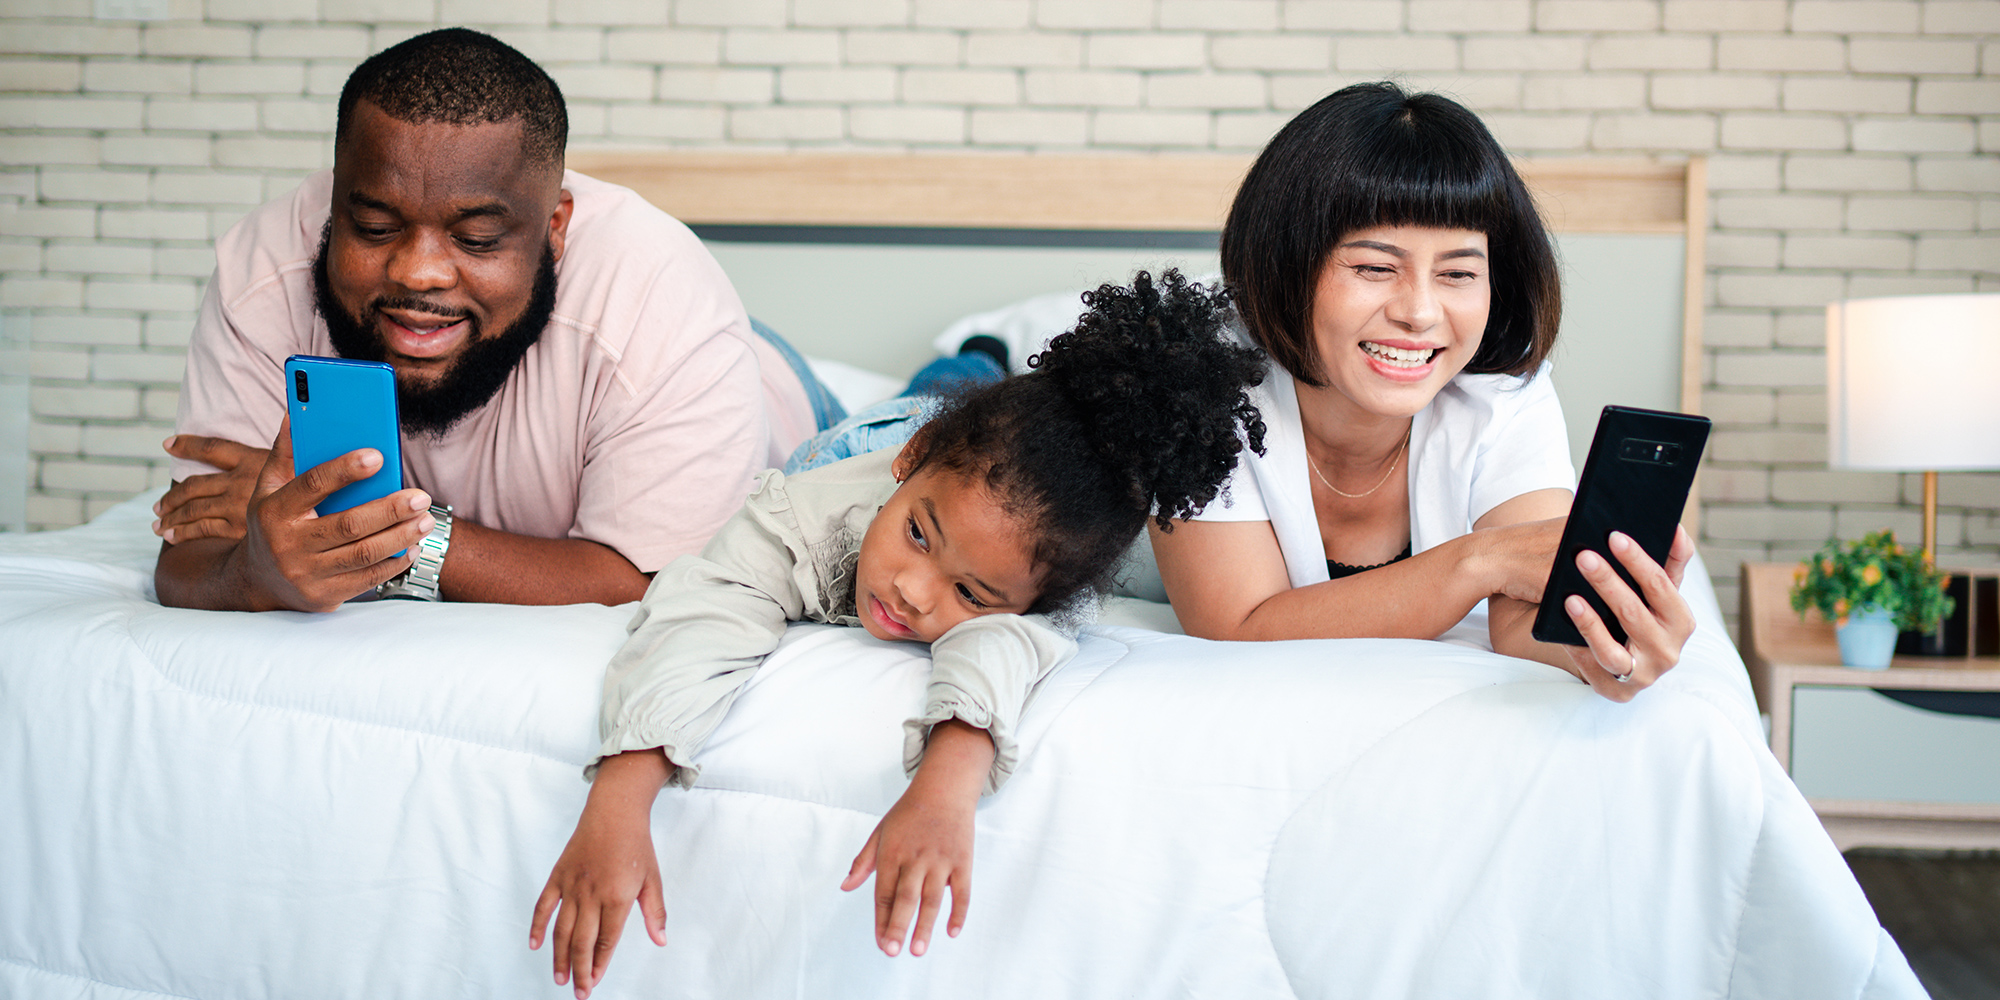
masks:
[[[800,350],[908,374],[958,316],[1140,266],[1218,270],[1250,158],[572,150],[570,166],[694,226]],[[1606,402],[1700,412],[1706,162],[1518,166],[1564,260],[1572,458]]]

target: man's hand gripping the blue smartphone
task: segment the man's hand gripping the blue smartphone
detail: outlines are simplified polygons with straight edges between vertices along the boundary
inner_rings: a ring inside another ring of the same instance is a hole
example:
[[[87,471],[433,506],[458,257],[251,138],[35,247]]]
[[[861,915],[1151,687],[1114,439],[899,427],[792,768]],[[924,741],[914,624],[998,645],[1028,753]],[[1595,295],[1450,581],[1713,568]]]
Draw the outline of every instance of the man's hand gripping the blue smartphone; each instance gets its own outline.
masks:
[[[290,424],[278,428],[258,472],[234,562],[250,610],[328,612],[410,568],[406,550],[436,522],[424,490],[316,514],[334,490],[376,474],[382,452],[360,448],[294,476]]]

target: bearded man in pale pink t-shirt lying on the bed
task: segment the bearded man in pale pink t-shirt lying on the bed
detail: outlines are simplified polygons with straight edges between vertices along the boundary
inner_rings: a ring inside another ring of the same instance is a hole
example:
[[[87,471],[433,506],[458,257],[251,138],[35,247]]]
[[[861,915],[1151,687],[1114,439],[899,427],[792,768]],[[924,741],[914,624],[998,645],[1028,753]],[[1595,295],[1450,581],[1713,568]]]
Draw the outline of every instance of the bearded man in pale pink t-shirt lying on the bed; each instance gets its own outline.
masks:
[[[814,432],[796,356],[694,234],[564,172],[566,136],[554,80],[478,32],[354,70],[334,170],[216,244],[156,508],[164,604],[636,600]],[[396,370],[408,488],[314,516],[382,456],[294,478],[290,354]]]

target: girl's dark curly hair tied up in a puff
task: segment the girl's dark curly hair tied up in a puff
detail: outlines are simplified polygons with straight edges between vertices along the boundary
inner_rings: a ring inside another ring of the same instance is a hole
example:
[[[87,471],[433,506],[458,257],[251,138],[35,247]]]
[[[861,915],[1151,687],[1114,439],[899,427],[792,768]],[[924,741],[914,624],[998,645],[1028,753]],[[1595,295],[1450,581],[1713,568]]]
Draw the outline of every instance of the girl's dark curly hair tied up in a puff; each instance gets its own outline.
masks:
[[[1036,538],[1030,614],[1102,594],[1148,514],[1198,514],[1264,418],[1246,390],[1264,356],[1222,336],[1228,292],[1178,270],[1084,294],[1076,330],[1028,358],[1034,372],[974,390],[910,442],[910,472],[978,478]],[[1240,432],[1238,432],[1240,428]]]

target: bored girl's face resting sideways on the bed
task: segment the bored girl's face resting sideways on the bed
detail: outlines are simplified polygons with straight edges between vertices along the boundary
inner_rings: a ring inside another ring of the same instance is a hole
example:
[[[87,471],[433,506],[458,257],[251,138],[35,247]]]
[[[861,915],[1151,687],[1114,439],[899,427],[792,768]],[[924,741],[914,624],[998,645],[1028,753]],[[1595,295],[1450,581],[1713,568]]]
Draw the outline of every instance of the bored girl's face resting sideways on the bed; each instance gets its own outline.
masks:
[[[1020,524],[984,486],[938,468],[888,498],[854,572],[854,614],[886,640],[932,642],[966,618],[1026,612],[1040,596]]]

